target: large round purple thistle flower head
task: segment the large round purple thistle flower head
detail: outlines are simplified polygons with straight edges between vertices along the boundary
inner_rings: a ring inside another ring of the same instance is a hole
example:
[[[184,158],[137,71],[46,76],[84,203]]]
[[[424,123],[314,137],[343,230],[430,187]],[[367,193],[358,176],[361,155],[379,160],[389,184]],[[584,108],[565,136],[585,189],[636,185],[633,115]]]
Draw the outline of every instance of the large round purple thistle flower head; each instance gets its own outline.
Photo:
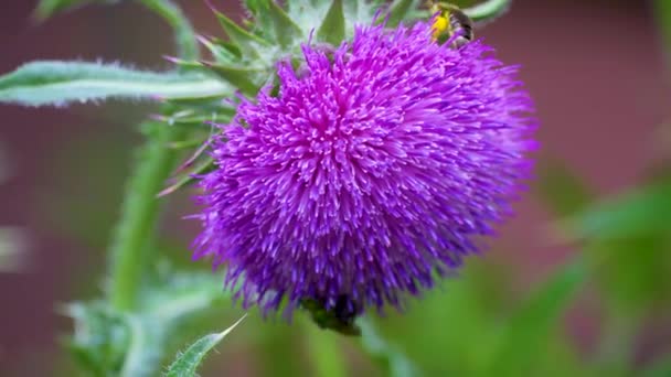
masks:
[[[516,67],[476,41],[360,26],[305,65],[278,65],[279,95],[243,100],[212,140],[194,258],[265,313],[303,299],[402,308],[478,251],[529,176],[535,121]]]

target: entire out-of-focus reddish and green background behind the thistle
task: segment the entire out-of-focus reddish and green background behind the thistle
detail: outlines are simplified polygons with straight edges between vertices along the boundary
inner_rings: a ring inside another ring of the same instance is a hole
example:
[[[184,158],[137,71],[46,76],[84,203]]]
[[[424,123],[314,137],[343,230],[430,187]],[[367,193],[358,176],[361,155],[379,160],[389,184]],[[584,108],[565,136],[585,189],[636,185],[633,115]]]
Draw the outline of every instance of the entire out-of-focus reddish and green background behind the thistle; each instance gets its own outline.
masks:
[[[242,15],[236,1],[215,3]],[[3,0],[0,74],[56,58],[170,68],[161,57],[173,54],[170,30],[131,1],[43,23],[31,18],[35,4]],[[181,4],[200,33],[222,34],[203,1]],[[490,251],[413,301],[405,315],[375,319],[426,375],[468,376],[488,357],[526,357],[514,375],[671,376],[664,369],[671,366],[671,61],[660,19],[646,1],[515,0],[505,17],[477,31],[503,62],[522,65],[542,121],[539,177]],[[0,105],[0,375],[74,374],[61,346],[72,324],[57,306],[100,293],[129,152],[142,140],[135,125],[149,111],[146,104]],[[190,262],[198,224],[181,217],[194,211],[191,194],[171,197],[163,244],[175,262],[209,271],[207,262]],[[572,265],[584,259],[588,272]],[[571,280],[581,272],[587,278]],[[552,286],[562,279],[574,286]],[[569,298],[550,294],[533,306],[530,300],[546,288],[568,290]],[[555,316],[536,321],[534,308],[553,305],[560,305]],[[521,308],[528,311],[520,314]],[[224,305],[194,333],[225,328],[241,313]],[[509,340],[507,331],[515,335]],[[308,354],[319,337],[310,334],[305,319],[287,325],[253,313],[202,374],[312,375]],[[330,341],[349,374],[385,375],[358,342]],[[497,346],[510,354],[492,356]]]

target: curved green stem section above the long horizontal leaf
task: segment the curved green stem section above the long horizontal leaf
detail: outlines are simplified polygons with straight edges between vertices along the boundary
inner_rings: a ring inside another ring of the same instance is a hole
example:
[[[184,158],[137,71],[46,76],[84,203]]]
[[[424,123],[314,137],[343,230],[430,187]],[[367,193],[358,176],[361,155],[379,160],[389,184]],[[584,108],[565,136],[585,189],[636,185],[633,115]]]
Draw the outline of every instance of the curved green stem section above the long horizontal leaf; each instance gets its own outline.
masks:
[[[174,31],[179,56],[195,60],[199,56],[198,42],[193,26],[182,10],[170,0],[138,0],[142,6],[156,12],[168,22]]]

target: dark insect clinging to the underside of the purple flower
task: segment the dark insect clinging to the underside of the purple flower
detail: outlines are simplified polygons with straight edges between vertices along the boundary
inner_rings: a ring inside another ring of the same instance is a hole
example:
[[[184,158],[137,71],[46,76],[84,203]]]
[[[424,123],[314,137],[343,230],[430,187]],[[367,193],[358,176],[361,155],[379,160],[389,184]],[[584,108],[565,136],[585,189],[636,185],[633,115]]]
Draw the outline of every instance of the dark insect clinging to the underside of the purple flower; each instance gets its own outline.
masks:
[[[350,336],[361,335],[361,328],[354,323],[359,312],[358,308],[344,294],[338,297],[336,306],[330,310],[326,309],[322,300],[316,299],[303,299],[300,301],[300,305],[310,313],[312,321],[320,328],[332,330]]]

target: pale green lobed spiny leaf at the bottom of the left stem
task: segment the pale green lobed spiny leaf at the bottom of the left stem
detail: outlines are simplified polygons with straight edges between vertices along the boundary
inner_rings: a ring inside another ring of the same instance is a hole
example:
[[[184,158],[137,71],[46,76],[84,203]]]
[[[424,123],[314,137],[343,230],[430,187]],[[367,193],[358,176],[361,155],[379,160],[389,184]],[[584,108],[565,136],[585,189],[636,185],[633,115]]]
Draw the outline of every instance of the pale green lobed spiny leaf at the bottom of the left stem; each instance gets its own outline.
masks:
[[[184,321],[228,298],[211,273],[177,272],[160,260],[158,267],[135,312],[118,311],[103,301],[63,310],[75,323],[70,347],[93,375],[157,376],[168,340]]]

